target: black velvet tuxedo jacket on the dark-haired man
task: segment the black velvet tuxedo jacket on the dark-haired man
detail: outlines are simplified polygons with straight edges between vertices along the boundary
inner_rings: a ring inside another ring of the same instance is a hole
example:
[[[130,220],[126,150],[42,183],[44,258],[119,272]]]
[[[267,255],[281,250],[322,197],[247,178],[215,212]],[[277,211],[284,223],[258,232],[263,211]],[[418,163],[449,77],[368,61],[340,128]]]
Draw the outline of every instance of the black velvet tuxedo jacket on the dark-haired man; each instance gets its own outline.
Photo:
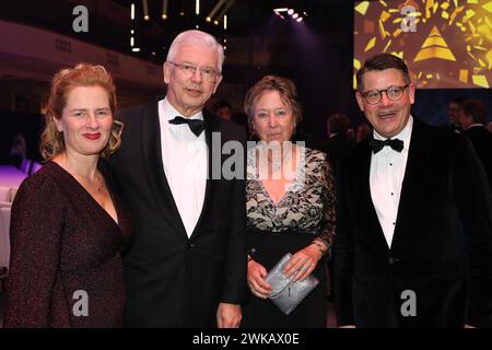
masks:
[[[471,143],[414,120],[390,248],[371,198],[371,154],[362,142],[337,176],[339,325],[490,326],[492,210]],[[411,299],[414,316],[406,313]]]

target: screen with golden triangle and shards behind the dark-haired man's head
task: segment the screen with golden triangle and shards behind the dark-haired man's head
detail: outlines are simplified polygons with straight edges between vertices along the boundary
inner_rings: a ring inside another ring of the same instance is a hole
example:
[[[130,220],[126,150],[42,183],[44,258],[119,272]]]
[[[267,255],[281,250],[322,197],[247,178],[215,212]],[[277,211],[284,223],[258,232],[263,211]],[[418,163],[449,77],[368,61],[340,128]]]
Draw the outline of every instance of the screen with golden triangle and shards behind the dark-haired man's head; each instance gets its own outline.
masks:
[[[354,4],[354,78],[379,52],[402,58],[418,88],[491,88],[492,0]]]

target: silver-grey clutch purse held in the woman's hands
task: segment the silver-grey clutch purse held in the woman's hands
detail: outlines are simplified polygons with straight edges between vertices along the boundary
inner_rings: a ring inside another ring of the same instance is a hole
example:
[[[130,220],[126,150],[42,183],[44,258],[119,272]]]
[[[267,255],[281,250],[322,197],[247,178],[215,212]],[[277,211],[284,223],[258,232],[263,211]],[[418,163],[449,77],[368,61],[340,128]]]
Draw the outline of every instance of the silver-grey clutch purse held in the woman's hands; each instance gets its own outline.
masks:
[[[291,259],[292,254],[285,254],[265,278],[272,287],[272,291],[268,298],[285,315],[292,313],[304,298],[319,283],[318,279],[313,275],[309,275],[304,281],[293,281],[291,278],[288,278],[283,273],[283,269]]]

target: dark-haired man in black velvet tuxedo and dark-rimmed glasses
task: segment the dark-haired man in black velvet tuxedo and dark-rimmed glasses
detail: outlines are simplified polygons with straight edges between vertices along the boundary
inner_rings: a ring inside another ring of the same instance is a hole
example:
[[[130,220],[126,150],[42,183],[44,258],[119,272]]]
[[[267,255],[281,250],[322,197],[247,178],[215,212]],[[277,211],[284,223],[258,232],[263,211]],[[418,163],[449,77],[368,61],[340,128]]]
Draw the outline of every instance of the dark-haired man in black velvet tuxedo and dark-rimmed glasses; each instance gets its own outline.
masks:
[[[374,132],[337,176],[339,326],[490,326],[492,209],[471,143],[412,118],[398,57],[366,60],[355,95]]]

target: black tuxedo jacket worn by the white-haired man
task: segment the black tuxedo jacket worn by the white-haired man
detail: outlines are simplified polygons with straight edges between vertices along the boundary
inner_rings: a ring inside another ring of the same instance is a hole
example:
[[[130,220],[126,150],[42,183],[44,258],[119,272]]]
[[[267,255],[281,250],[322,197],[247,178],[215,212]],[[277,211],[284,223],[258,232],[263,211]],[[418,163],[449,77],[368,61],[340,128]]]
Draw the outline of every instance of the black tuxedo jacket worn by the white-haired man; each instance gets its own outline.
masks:
[[[220,302],[244,302],[247,260],[244,174],[243,179],[212,179],[211,162],[222,165],[229,158],[212,156],[212,132],[220,132],[220,147],[229,140],[245,145],[246,135],[203,110],[209,179],[188,238],[163,168],[157,102],[121,110],[122,143],[110,160],[134,228],[125,258],[125,325],[212,327]]]

